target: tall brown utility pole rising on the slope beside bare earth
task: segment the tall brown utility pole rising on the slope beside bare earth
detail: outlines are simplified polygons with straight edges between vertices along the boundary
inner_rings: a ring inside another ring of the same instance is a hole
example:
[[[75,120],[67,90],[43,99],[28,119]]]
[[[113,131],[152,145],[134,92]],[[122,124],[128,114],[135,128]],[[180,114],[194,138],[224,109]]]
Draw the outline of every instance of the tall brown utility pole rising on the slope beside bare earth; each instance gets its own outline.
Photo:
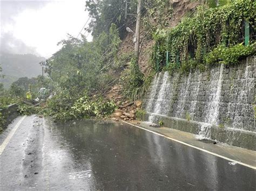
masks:
[[[141,17],[141,7],[142,7],[142,0],[138,0],[138,8],[137,8],[137,20],[136,20],[136,31],[135,31],[135,58],[137,60],[137,63],[139,61],[139,34],[140,34],[140,17]]]

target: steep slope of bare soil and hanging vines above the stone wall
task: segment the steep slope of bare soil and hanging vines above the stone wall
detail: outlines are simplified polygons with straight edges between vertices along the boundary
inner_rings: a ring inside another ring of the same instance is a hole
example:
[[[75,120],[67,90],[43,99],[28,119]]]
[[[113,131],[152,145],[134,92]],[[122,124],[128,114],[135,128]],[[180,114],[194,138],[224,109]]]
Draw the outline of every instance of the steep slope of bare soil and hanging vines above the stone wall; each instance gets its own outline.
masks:
[[[140,93],[147,89],[150,77],[161,70],[169,70],[170,73],[209,70],[216,64],[234,65],[254,55],[254,6],[254,1],[238,0],[209,9],[207,4],[198,1],[176,0],[148,9],[143,19],[139,59],[140,70],[145,74],[143,83],[140,87],[130,83],[130,89],[123,86],[123,93],[130,91],[124,95],[142,97]],[[247,37],[246,26],[250,31]],[[125,40],[131,41],[131,36]],[[123,42],[121,51],[127,48],[129,46]]]

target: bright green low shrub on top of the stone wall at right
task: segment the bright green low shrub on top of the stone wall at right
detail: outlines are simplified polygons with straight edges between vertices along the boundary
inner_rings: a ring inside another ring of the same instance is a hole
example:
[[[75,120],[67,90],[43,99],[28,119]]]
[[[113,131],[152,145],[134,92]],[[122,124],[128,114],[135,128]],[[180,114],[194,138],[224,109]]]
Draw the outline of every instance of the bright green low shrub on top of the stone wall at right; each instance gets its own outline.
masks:
[[[244,46],[242,44],[226,47],[219,45],[212,52],[205,55],[205,63],[212,65],[214,63],[224,63],[226,65],[235,65],[240,59],[246,58],[255,53],[256,43]]]

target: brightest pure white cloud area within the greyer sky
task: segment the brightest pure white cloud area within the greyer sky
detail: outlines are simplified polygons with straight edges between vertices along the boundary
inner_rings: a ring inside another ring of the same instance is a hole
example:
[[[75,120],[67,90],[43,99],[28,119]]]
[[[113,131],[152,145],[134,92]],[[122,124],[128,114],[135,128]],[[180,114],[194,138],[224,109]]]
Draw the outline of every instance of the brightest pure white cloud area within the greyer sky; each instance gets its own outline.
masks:
[[[3,32],[13,33],[15,38],[48,58],[60,48],[57,43],[67,33],[77,37],[89,18],[84,9],[84,0],[49,2],[41,9],[25,9],[12,17],[14,24],[3,26]]]

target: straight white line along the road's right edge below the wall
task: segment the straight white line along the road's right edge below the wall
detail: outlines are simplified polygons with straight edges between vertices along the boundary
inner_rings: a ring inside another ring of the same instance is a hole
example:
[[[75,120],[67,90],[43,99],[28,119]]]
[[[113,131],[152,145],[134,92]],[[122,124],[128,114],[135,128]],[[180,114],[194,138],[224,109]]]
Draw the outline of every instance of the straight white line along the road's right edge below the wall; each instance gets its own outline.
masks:
[[[126,124],[129,124],[129,125],[132,125],[132,126],[135,126],[136,128],[143,129],[143,130],[145,130],[145,131],[149,131],[149,132],[151,132],[151,133],[154,133],[154,134],[156,134],[156,135],[158,135],[158,136],[161,136],[161,137],[164,137],[164,138],[166,138],[166,139],[173,140],[174,142],[178,142],[178,143],[181,143],[181,144],[183,144],[183,145],[186,145],[186,146],[190,146],[190,147],[196,148],[197,150],[200,150],[200,151],[206,152],[206,153],[208,153],[208,154],[212,154],[212,155],[214,155],[214,156],[216,156],[216,157],[220,157],[220,158],[223,158],[223,159],[226,159],[226,160],[229,160],[229,161],[235,162],[235,163],[237,163],[237,164],[240,164],[240,165],[243,165],[243,166],[246,166],[246,167],[252,168],[252,169],[256,169],[256,166],[248,165],[248,164],[245,164],[244,162],[240,162],[240,161],[237,161],[237,160],[233,160],[233,159],[230,159],[230,158],[224,157],[223,155],[220,155],[220,154],[217,154],[217,153],[213,153],[213,152],[211,152],[211,151],[204,150],[203,148],[200,148],[200,147],[197,147],[197,146],[194,146],[194,145],[190,145],[190,144],[185,143],[185,142],[181,142],[180,140],[173,139],[173,138],[171,138],[171,137],[167,137],[167,136],[165,136],[165,135],[161,135],[160,133],[157,133],[157,132],[154,132],[154,131],[151,131],[151,130],[148,130],[148,129],[142,128],[142,127],[140,127],[140,126],[138,126],[138,125],[134,125],[134,124],[131,124],[131,123],[128,123],[128,122],[125,122],[125,121],[122,121],[122,122],[124,122],[124,123],[126,123]]]

